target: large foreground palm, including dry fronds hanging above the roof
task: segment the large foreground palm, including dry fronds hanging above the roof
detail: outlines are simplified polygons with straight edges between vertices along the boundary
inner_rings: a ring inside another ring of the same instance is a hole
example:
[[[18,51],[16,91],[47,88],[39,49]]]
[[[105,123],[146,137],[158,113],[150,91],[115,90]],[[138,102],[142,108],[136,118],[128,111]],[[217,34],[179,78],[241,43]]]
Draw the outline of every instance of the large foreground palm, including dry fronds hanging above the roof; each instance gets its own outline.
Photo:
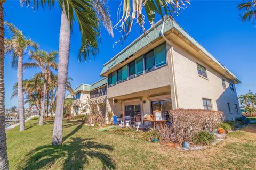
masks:
[[[26,2],[29,5],[30,0],[21,0],[21,3]],[[54,1],[42,0],[33,1],[34,7],[42,5],[43,7],[51,8]],[[121,27],[123,30],[124,39],[129,35],[134,19],[137,20],[140,27],[145,31],[143,24],[145,23],[142,9],[144,8],[151,25],[154,25],[155,12],[164,18],[164,15],[177,14],[178,10],[185,5],[189,0],[124,0],[123,15],[116,27]],[[95,56],[98,53],[98,39],[100,35],[99,21],[102,21],[105,28],[113,35],[109,12],[105,0],[59,0],[61,13],[61,27],[59,40],[59,70],[58,70],[58,91],[57,91],[57,108],[55,113],[55,121],[53,128],[52,144],[58,145],[62,143],[62,121],[63,121],[63,105],[65,99],[65,82],[67,79],[68,57],[70,45],[70,28],[72,28],[73,19],[77,18],[82,36],[81,48],[79,51],[79,60],[86,60],[92,54]],[[131,13],[132,9],[132,13]]]

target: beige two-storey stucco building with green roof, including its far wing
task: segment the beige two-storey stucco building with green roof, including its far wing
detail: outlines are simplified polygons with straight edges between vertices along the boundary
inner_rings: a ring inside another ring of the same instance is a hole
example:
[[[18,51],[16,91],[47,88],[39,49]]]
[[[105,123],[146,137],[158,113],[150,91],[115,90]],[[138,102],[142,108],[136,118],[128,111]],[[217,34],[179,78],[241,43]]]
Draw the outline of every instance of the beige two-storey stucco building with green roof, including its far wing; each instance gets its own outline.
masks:
[[[241,82],[185,30],[167,20],[147,32],[104,64],[106,78],[76,88],[76,99],[107,86],[105,112],[121,117],[159,109],[167,118],[179,108],[223,111],[226,120],[241,116],[235,88]]]

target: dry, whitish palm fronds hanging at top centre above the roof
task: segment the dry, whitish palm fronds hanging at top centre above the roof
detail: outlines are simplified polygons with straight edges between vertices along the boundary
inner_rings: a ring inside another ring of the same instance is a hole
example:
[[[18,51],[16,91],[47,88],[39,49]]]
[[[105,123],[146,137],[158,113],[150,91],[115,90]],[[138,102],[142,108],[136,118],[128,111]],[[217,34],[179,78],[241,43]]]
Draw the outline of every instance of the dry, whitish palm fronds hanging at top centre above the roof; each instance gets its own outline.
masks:
[[[122,30],[122,37],[119,41],[124,41],[129,36],[134,22],[138,22],[142,31],[146,32],[143,10],[145,10],[150,25],[154,27],[156,13],[162,19],[164,19],[165,15],[173,19],[175,15],[179,14],[182,8],[190,4],[190,0],[122,0],[121,4],[123,4],[123,11],[119,8],[118,12],[121,13],[121,16],[119,16],[119,21],[114,28]]]

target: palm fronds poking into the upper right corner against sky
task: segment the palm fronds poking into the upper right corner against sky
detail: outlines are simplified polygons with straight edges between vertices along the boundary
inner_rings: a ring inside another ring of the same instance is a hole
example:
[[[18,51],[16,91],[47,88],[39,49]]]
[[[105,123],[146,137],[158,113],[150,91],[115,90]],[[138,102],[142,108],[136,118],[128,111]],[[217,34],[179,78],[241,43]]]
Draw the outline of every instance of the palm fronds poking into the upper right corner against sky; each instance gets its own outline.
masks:
[[[242,21],[251,21],[255,24],[256,21],[256,0],[246,0],[244,3],[237,5],[239,10],[243,11],[241,15]]]

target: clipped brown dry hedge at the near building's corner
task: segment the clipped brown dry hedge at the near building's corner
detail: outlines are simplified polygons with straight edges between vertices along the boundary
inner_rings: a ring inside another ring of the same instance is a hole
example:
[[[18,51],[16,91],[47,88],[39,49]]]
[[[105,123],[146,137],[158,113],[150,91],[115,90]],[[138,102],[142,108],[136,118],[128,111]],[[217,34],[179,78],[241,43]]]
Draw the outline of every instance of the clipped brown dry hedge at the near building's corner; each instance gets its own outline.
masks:
[[[213,132],[223,122],[222,111],[205,111],[202,109],[178,109],[169,111],[171,121],[170,131],[174,141],[182,144],[190,142],[199,132]]]

